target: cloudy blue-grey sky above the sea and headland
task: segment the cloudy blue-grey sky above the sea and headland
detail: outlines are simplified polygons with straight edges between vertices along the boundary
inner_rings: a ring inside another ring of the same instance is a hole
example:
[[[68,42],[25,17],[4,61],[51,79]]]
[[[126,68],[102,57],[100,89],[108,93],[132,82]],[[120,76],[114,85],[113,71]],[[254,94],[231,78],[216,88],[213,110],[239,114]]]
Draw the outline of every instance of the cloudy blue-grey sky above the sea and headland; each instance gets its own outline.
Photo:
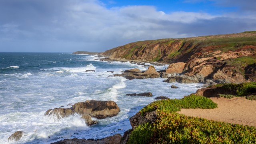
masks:
[[[0,0],[0,52],[104,52],[256,30],[256,0]]]

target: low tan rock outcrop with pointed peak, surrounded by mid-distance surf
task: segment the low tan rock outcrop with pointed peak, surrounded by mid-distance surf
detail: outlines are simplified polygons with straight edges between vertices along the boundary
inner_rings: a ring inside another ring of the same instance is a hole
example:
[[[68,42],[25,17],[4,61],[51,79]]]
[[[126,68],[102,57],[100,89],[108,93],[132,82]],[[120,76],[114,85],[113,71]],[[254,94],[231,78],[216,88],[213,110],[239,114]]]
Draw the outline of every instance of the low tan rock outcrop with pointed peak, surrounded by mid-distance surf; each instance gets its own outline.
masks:
[[[113,76],[123,76],[126,79],[144,79],[144,78],[160,78],[159,72],[156,72],[154,66],[149,66],[148,70],[142,72],[138,68],[126,70],[122,74],[114,74]]]

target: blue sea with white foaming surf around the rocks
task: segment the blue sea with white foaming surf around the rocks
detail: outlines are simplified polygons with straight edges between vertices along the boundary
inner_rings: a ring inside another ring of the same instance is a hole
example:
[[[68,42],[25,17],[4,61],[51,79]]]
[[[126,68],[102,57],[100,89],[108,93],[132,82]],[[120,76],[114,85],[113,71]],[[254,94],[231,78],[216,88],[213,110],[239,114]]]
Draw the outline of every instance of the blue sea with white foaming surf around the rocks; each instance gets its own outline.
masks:
[[[163,70],[167,66],[155,68]],[[147,70],[148,67],[132,62],[101,61],[96,55],[0,52],[0,143],[17,143],[8,141],[16,131],[25,132],[18,141],[20,144],[122,135],[131,128],[129,118],[157,96],[182,98],[202,86],[166,83],[162,78],[126,80],[111,76],[132,68]],[[172,84],[179,88],[170,88]],[[126,96],[142,92],[152,92],[153,97]],[[69,108],[70,104],[85,100],[112,100],[120,112],[98,120],[94,126],[86,126],[78,114],[60,120],[44,116],[48,109]]]

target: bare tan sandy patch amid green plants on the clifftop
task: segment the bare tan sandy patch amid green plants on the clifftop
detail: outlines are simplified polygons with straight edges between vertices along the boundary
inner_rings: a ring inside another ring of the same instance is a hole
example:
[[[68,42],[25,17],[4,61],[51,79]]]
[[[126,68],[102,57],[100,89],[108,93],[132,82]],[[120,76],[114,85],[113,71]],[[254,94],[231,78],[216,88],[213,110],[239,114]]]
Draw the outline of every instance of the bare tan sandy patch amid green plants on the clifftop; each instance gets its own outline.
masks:
[[[246,98],[210,98],[218,104],[215,109],[182,109],[180,114],[208,120],[256,127],[256,100]]]

